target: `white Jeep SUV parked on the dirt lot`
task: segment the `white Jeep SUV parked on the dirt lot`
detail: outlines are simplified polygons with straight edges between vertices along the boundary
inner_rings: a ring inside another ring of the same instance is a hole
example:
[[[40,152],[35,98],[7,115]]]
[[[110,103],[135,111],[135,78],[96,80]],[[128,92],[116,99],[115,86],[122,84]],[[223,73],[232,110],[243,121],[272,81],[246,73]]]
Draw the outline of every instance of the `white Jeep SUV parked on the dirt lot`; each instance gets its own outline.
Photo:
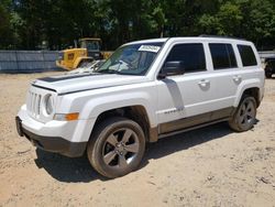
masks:
[[[34,80],[16,117],[20,135],[67,156],[87,152],[96,171],[135,170],[145,144],[228,121],[250,130],[264,94],[253,43],[169,37],[119,47],[96,72]]]

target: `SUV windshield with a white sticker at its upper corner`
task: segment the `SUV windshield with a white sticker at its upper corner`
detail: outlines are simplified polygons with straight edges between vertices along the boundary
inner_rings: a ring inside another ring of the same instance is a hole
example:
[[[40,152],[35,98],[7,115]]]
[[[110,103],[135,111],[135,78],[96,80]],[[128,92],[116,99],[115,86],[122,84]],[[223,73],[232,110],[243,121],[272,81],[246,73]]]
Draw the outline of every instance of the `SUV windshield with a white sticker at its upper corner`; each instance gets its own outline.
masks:
[[[119,47],[97,73],[144,75],[161,51],[163,43],[131,44]]]

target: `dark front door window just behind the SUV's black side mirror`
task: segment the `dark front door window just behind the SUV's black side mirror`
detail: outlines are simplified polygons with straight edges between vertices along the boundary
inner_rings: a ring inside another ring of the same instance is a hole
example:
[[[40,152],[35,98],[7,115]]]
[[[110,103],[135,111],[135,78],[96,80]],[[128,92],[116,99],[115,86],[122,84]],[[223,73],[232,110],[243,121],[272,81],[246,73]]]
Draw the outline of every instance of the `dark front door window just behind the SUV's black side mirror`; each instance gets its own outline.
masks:
[[[185,73],[206,70],[206,57],[201,43],[177,44],[166,58],[166,62],[184,62]]]

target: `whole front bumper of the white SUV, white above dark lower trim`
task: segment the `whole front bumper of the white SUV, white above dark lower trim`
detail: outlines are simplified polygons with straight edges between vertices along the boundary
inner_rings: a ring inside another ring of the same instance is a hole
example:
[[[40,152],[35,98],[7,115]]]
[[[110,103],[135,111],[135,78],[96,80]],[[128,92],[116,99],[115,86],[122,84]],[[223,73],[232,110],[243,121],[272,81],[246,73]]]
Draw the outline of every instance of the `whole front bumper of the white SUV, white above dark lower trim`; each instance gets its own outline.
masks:
[[[76,121],[40,122],[29,116],[23,105],[18,113],[19,135],[25,137],[34,145],[45,151],[57,152],[66,156],[81,156],[89,141],[96,119]]]

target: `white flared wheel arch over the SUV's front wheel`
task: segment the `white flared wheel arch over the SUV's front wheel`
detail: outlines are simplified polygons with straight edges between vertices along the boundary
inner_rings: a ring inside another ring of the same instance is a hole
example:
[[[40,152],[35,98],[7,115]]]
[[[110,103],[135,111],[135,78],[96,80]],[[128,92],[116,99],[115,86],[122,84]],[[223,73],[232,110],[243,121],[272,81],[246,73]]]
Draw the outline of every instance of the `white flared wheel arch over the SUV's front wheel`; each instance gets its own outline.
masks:
[[[86,134],[89,134],[84,138],[85,140],[89,140],[90,134],[102,118],[118,115],[139,122],[143,129],[147,130],[145,135],[150,142],[157,140],[157,115],[155,113],[155,106],[152,105],[155,99],[148,92],[136,91],[119,95],[112,92],[103,97],[89,98],[84,106],[81,105],[84,99],[74,100],[72,108],[80,111],[80,119],[92,120],[92,124],[82,127]]]

